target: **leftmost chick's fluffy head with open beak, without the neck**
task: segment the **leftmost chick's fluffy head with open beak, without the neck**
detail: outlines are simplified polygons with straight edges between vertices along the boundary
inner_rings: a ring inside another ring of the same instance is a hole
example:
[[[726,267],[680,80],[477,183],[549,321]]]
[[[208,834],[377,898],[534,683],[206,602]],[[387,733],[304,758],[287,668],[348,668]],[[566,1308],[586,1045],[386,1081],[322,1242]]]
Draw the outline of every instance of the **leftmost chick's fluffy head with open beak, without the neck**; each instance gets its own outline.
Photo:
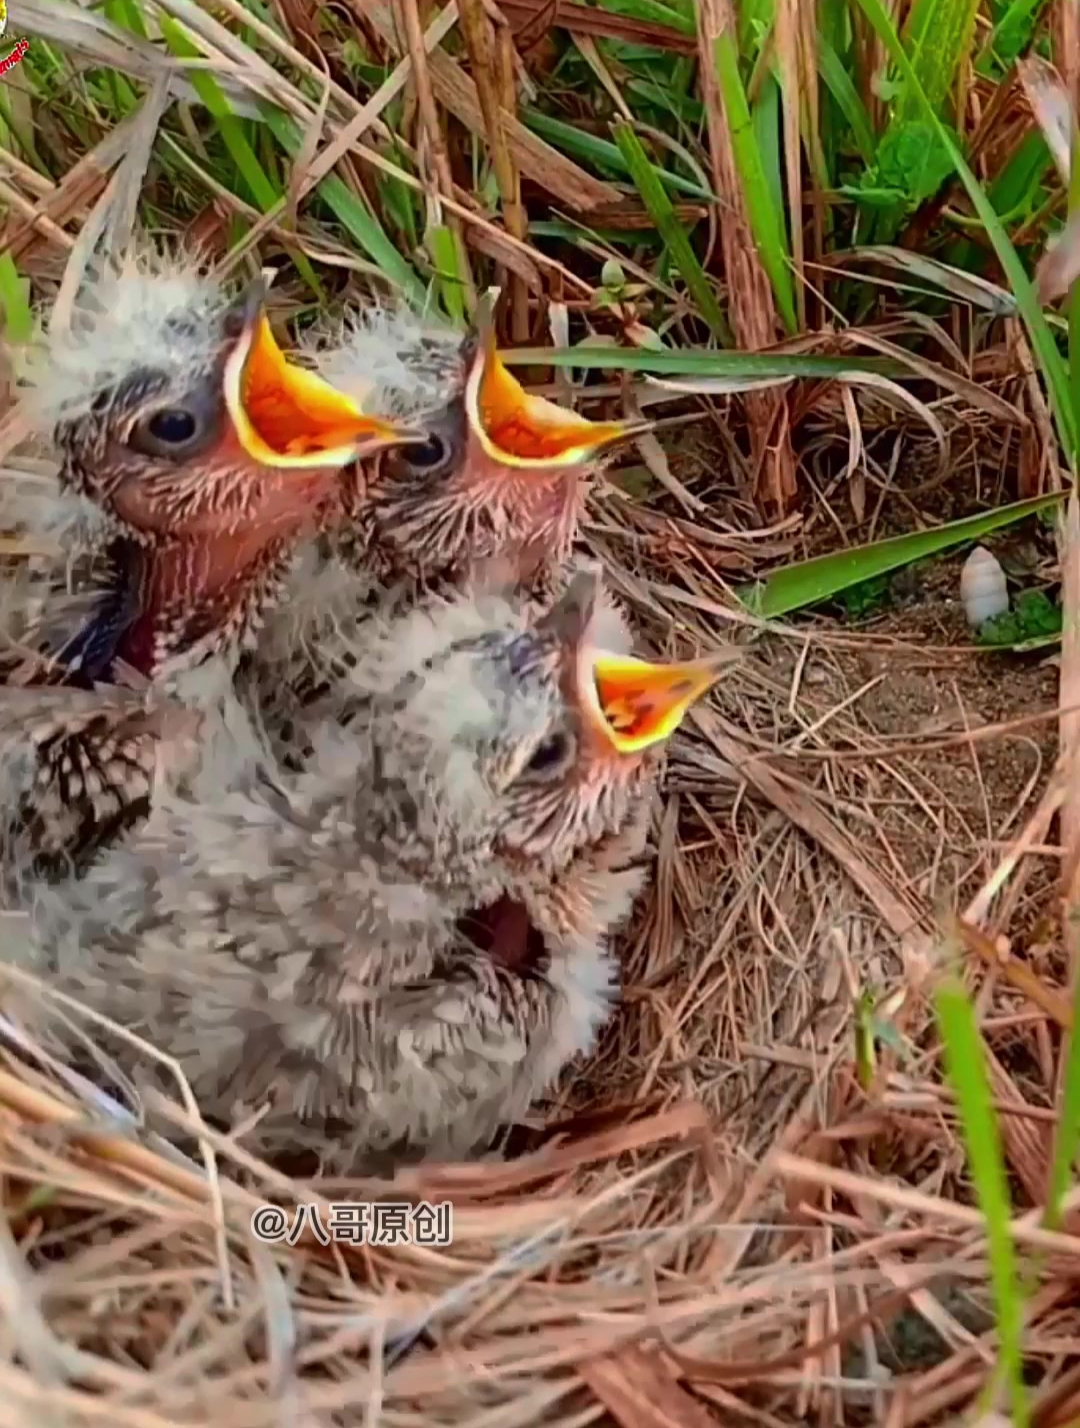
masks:
[[[144,261],[90,286],[29,396],[61,484],[143,544],[240,538],[309,518],[344,466],[400,440],[283,354],[264,296]]]

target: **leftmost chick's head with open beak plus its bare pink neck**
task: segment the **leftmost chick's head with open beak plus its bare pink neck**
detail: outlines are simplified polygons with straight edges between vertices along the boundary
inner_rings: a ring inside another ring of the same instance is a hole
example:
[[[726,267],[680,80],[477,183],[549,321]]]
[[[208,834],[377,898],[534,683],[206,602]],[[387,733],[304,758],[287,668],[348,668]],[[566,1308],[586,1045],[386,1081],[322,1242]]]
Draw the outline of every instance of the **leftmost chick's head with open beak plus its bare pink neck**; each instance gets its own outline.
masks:
[[[264,298],[261,281],[230,297],[196,261],[139,253],[94,276],[30,364],[61,487],[117,537],[123,573],[91,631],[103,660],[150,674],[227,644],[337,501],[343,467],[419,434],[287,358]]]

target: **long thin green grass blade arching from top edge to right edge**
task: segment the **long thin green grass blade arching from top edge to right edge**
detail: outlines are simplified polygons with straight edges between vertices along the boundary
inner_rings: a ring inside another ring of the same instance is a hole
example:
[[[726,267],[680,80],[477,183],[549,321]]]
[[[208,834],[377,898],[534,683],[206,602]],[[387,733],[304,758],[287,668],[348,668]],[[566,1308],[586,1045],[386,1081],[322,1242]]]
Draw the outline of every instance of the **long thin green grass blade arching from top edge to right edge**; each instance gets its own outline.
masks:
[[[856,0],[856,4],[859,4],[870,24],[874,27],[879,39],[889,50],[896,67],[903,74],[904,81],[910,86],[911,94],[919,99],[924,117],[936,130],[937,137],[949,153],[949,157],[951,159],[953,166],[974,206],[974,210],[986,228],[987,237],[994,247],[994,253],[1006,271],[1009,284],[1016,294],[1020,316],[1024,327],[1027,328],[1031,348],[1043,373],[1050,408],[1054,414],[1054,423],[1057,426],[1057,434],[1061,446],[1064,447],[1066,457],[1076,473],[1077,460],[1080,460],[1080,414],[1073,407],[1069,387],[1069,373],[1061,353],[1057,348],[1057,343],[1054,341],[1054,336],[1050,331],[1050,326],[1043,316],[1041,307],[1039,306],[1039,298],[1036,297],[1031,280],[1024,271],[1024,266],[1020,261],[1016,248],[1009,241],[1009,234],[1001,226],[1001,220],[997,217],[994,206],[983,193],[979,180],[964,161],[953,136],[939,120],[937,114],[934,114],[926,94],[923,94],[916,73],[911,69],[911,63],[904,53],[904,47],[900,44],[896,30],[893,29],[893,23],[881,6],[881,0]]]

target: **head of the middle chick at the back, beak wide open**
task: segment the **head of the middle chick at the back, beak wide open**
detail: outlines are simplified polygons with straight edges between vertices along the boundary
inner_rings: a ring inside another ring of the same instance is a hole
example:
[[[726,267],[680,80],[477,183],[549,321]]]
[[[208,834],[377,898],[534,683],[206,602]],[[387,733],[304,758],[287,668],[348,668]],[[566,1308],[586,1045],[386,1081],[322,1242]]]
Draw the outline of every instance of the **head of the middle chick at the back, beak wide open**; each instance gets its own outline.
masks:
[[[487,304],[464,340],[406,316],[361,320],[323,370],[346,391],[380,388],[377,410],[397,400],[423,411],[426,438],[373,463],[360,513],[370,523],[364,545],[389,571],[457,571],[524,545],[543,545],[559,565],[577,533],[584,480],[616,443],[647,430],[589,421],[530,396],[496,350]]]

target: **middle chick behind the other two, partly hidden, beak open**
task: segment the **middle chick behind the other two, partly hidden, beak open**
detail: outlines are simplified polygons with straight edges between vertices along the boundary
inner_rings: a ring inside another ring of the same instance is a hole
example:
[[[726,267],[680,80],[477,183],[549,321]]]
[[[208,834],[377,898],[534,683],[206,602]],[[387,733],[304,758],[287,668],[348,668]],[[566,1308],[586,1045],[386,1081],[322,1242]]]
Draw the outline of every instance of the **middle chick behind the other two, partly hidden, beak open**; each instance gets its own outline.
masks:
[[[649,428],[529,396],[499,357],[487,300],[464,338],[406,310],[361,311],[317,361],[336,388],[427,437],[379,453],[361,483],[346,476],[327,544],[309,550],[269,618],[250,680],[270,695],[271,731],[301,724],[303,705],[340,675],[357,621],[387,601],[407,608],[461,588],[489,563],[553,598],[587,478],[616,443]]]

